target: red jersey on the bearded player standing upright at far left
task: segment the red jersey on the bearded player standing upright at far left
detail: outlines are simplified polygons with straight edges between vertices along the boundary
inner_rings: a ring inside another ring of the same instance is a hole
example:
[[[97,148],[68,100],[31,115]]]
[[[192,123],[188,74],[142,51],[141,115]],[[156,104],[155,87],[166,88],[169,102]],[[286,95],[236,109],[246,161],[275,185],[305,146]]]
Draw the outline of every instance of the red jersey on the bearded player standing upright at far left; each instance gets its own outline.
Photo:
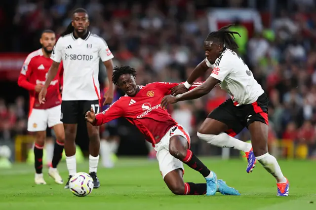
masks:
[[[35,91],[35,86],[44,85],[47,77],[47,72],[53,61],[43,55],[42,49],[36,50],[28,55],[22,67],[18,85],[29,90],[30,93],[30,110],[47,109],[61,104],[61,94],[59,91],[61,85],[61,71],[58,70],[57,75],[51,81],[47,88],[45,104],[40,104],[38,96]],[[30,111],[31,112],[31,111]]]

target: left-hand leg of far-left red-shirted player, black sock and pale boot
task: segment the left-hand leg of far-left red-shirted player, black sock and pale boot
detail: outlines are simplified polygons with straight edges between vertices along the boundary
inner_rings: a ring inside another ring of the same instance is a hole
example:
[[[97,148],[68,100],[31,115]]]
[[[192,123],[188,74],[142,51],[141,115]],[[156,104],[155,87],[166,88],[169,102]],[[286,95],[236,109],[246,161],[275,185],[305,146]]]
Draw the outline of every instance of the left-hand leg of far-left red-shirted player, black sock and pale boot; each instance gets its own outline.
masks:
[[[43,169],[43,148],[45,144],[46,131],[35,132],[34,158],[35,158],[35,183],[46,184]]]

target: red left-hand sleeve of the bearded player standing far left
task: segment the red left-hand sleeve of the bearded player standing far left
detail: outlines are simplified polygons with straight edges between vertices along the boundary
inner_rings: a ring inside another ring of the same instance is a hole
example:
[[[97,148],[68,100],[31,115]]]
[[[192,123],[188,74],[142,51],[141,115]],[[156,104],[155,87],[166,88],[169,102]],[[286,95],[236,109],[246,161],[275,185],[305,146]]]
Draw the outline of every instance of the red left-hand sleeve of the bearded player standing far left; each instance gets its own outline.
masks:
[[[18,85],[23,87],[27,90],[35,90],[35,84],[32,84],[28,81],[30,75],[32,74],[32,58],[34,57],[33,53],[29,54],[28,57],[25,59],[23,67],[20,72],[20,76],[18,78]]]

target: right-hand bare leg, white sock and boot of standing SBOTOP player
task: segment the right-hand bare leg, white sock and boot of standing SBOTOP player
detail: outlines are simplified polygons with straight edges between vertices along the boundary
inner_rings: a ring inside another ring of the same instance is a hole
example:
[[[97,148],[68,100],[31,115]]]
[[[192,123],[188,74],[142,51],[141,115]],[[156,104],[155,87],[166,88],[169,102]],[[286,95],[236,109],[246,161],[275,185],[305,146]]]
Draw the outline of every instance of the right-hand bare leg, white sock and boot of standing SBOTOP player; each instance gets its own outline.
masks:
[[[100,126],[93,126],[87,123],[89,136],[89,175],[93,178],[94,188],[100,187],[100,181],[97,177],[100,152]]]

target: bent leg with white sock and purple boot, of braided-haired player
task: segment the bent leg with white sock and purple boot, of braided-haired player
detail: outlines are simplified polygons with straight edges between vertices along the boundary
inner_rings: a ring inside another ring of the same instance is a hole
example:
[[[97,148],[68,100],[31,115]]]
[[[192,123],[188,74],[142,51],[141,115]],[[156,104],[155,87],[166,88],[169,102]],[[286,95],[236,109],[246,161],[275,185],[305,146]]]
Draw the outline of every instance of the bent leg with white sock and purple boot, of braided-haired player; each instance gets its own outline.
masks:
[[[227,133],[225,133],[228,130],[229,128],[225,123],[212,118],[206,118],[199,127],[197,136],[199,139],[205,140],[214,146],[222,148],[228,147],[244,151],[248,160],[246,171],[247,173],[252,172],[256,164],[255,155],[252,151],[252,145],[229,136]]]

